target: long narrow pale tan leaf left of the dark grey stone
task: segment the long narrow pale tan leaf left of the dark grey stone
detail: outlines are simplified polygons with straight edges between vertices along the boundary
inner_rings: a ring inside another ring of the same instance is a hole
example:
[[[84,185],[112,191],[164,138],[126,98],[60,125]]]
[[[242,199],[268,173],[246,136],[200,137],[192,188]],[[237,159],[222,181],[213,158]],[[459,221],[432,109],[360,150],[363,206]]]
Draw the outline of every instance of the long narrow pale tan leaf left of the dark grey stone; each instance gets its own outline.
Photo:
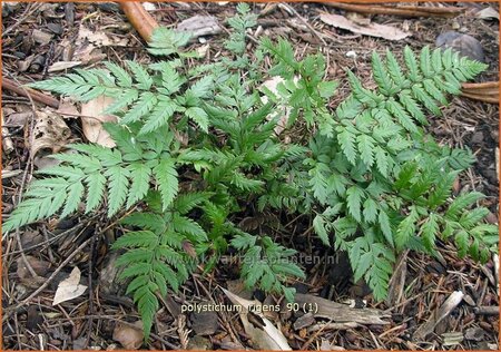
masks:
[[[410,32],[405,32],[403,30],[400,30],[395,27],[387,25],[369,23],[367,26],[361,26],[341,14],[324,12],[321,13],[320,19],[324,23],[327,23],[336,28],[346,29],[354,33],[360,33],[370,37],[377,37],[387,40],[401,40],[411,36]]]

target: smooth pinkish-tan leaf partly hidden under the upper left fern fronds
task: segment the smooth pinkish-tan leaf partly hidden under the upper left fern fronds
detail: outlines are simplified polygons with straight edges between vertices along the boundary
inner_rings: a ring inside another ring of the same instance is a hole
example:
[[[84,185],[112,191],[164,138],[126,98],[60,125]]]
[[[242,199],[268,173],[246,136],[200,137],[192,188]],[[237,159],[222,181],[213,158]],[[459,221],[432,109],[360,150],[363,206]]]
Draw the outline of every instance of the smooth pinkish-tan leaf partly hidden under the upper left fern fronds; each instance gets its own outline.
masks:
[[[91,143],[112,148],[115,141],[109,134],[102,128],[102,123],[116,123],[117,117],[112,115],[100,115],[114,99],[109,97],[98,97],[81,105],[81,125],[84,135]]]

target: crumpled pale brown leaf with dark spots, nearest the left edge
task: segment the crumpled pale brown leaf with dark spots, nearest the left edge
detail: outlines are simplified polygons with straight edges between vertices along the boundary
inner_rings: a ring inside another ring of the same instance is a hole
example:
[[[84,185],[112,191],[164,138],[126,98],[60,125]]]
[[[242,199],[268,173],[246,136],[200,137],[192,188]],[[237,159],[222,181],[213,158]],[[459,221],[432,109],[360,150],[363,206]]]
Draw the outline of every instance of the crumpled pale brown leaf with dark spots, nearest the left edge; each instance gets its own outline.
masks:
[[[35,158],[42,149],[58,153],[68,144],[71,130],[58,114],[49,108],[37,111],[33,134],[30,136],[30,154]]]

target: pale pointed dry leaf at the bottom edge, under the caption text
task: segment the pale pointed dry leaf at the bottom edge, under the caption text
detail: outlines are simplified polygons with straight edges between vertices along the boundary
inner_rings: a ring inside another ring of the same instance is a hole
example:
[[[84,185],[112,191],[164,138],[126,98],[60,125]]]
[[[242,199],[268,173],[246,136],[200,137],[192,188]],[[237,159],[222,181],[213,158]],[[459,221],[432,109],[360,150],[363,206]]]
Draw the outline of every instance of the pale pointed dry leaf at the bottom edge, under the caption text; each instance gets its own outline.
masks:
[[[292,351],[282,331],[276,329],[262,313],[261,302],[244,300],[225,289],[222,290],[233,304],[242,306],[238,313],[244,324],[245,333],[250,336],[250,341],[261,350]],[[253,323],[249,321],[249,316],[253,316]]]

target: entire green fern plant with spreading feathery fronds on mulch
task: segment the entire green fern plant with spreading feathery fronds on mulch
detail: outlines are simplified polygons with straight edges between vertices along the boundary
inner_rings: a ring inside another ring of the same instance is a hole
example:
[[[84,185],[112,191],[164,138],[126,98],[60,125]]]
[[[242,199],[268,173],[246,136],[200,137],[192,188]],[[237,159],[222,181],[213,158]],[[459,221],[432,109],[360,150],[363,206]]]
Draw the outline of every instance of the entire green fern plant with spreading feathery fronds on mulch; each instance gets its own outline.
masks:
[[[268,38],[249,56],[246,30],[255,23],[239,4],[227,55],[193,69],[186,59],[196,53],[181,49],[189,35],[160,28],[148,50],[167,60],[105,62],[30,85],[80,101],[114,98],[104,113],[118,123],[104,127],[116,147],[75,144],[55,155],[60,164],[37,173],[2,232],[79,209],[108,217],[128,209],[114,248],[125,250],[121,280],[146,338],[158,295],[179,290],[198,267],[210,271],[229,246],[242,255],[247,286],[294,300],[286,283],[305,277],[291,261],[295,251],[238,228],[249,209],[312,214],[321,241],[348,253],[355,280],[376,300],[403,250],[439,255],[438,242],[452,238],[460,255],[487,261],[495,251],[498,228],[482,223],[488,211],[477,206],[482,195],[451,193],[474,158],[439,146],[423,128],[482,63],[428,47],[419,57],[405,48],[403,66],[390,51],[374,52],[377,88],[348,71],[352,94],[333,110],[337,82],[325,80],[325,58],[297,59],[285,39]],[[281,77],[276,92],[262,86],[269,76]],[[285,109],[288,126],[304,121],[310,135],[281,140],[274,129]]]

